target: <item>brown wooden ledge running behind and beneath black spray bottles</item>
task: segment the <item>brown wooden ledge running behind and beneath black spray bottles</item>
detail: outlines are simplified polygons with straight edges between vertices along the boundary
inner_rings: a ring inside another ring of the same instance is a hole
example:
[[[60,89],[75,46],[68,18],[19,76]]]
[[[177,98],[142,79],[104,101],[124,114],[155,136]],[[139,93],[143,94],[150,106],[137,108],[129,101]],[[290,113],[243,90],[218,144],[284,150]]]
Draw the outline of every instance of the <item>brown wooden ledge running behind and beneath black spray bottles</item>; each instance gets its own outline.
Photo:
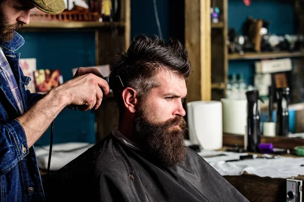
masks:
[[[276,148],[293,149],[295,146],[304,145],[303,138],[297,137],[265,137],[261,136],[262,143],[273,143]],[[244,135],[223,134],[223,145],[244,146]]]

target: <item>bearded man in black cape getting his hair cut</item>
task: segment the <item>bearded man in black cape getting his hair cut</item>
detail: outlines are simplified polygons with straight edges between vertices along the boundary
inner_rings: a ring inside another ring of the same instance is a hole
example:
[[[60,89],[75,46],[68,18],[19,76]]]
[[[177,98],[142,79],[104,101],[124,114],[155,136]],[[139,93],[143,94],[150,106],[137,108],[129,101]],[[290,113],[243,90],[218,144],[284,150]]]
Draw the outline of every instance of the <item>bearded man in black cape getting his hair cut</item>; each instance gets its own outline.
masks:
[[[180,42],[136,36],[110,63],[118,128],[51,175],[50,201],[248,201],[184,146],[190,74]]]

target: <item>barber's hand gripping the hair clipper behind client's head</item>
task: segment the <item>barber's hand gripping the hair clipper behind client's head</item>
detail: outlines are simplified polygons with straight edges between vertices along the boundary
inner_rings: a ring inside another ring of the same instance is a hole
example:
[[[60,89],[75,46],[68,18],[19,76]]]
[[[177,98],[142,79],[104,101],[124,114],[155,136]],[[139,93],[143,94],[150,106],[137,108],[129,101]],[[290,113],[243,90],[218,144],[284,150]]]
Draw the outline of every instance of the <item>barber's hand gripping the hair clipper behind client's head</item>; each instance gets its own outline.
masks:
[[[92,73],[75,77],[54,90],[55,93],[67,98],[67,105],[81,106],[80,111],[97,109],[103,95],[108,96],[110,93],[106,80]]]

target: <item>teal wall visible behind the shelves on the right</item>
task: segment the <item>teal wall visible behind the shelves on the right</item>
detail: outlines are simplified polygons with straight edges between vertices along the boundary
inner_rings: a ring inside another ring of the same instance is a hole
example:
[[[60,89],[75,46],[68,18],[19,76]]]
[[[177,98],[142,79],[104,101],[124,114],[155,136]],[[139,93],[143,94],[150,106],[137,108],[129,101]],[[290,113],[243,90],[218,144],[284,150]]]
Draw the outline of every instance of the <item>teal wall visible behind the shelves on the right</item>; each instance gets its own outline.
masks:
[[[229,0],[228,2],[228,27],[235,28],[236,32],[241,30],[247,17],[252,16],[269,21],[271,34],[296,33],[294,0],[253,0],[249,7],[246,7],[240,0]],[[254,62],[255,60],[229,61],[228,74],[243,73],[245,81],[252,85],[255,71]]]

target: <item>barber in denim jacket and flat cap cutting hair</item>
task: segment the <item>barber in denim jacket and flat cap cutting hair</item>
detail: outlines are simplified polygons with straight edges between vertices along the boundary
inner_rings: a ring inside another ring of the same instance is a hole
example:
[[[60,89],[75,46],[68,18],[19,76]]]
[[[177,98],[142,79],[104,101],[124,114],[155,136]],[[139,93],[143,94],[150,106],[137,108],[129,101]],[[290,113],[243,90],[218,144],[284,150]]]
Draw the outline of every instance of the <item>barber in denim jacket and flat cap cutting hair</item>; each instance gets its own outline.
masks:
[[[64,0],[0,0],[0,201],[45,201],[33,144],[69,105],[97,109],[109,94],[96,69],[80,68],[76,76],[46,95],[30,93],[29,78],[19,67],[17,49],[24,39],[16,30],[29,23],[34,7],[51,14]]]

